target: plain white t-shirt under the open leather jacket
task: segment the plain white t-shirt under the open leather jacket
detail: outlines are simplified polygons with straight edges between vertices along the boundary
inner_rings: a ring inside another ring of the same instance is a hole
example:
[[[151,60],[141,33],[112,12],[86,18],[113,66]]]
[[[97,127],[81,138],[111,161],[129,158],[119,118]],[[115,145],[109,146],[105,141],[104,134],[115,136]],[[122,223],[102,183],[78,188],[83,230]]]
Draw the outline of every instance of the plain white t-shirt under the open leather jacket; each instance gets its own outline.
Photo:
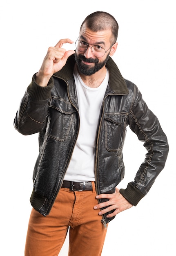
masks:
[[[109,81],[107,70],[105,79],[98,88],[90,88],[82,81],[76,65],[74,79],[78,95],[80,130],[71,157],[65,180],[95,181],[95,143],[102,100]]]

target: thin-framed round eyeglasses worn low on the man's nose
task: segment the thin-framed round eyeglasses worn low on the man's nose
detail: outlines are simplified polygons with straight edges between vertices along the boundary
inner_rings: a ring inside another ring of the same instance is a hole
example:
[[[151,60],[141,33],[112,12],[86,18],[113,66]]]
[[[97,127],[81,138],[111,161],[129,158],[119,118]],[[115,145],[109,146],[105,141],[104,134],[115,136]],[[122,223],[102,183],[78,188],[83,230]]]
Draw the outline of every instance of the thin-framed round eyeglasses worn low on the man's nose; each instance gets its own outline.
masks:
[[[100,45],[92,45],[90,46],[91,44],[88,44],[84,41],[80,41],[80,40],[76,40],[75,42],[76,44],[76,49],[79,51],[79,52],[85,52],[88,47],[91,48],[91,51],[93,52],[93,54],[96,56],[96,57],[103,57],[105,55],[105,53],[114,45],[112,44],[109,49],[107,49],[107,51],[102,48]]]

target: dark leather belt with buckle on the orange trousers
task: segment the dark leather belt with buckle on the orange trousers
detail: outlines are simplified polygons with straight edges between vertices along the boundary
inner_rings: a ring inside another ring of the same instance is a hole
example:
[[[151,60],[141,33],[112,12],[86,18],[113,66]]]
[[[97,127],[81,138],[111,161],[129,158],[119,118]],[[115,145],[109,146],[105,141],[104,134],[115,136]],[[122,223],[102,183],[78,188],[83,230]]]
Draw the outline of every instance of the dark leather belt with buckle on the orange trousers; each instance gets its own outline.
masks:
[[[74,181],[64,180],[62,184],[62,188],[70,189],[70,191],[84,191],[84,190],[92,191],[92,183],[91,181],[74,182]]]

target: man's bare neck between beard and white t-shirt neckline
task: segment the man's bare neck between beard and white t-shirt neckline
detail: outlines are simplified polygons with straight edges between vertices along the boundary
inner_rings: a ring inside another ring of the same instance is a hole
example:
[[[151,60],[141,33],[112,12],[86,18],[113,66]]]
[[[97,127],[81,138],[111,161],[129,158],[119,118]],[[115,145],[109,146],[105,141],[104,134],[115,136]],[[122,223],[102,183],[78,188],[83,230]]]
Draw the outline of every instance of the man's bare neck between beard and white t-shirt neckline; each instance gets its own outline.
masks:
[[[105,79],[105,76],[106,76],[105,66],[91,76],[85,76],[83,74],[80,74],[82,81],[91,88],[97,88],[98,86],[100,86],[102,81]]]

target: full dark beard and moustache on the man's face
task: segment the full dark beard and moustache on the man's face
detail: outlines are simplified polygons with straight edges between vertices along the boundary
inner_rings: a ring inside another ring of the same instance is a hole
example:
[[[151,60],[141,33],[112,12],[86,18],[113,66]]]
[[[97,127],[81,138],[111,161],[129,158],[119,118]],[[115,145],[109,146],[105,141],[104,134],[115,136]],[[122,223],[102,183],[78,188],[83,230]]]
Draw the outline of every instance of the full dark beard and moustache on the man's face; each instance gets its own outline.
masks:
[[[109,59],[109,54],[105,58],[104,61],[99,61],[98,58],[85,58],[84,55],[79,54],[77,55],[75,52],[75,60],[78,68],[78,72],[85,76],[91,76],[95,74],[98,70],[100,70],[102,67],[105,66]],[[88,62],[88,63],[95,63],[94,67],[89,67],[89,65],[86,65],[82,63],[82,61]]]

